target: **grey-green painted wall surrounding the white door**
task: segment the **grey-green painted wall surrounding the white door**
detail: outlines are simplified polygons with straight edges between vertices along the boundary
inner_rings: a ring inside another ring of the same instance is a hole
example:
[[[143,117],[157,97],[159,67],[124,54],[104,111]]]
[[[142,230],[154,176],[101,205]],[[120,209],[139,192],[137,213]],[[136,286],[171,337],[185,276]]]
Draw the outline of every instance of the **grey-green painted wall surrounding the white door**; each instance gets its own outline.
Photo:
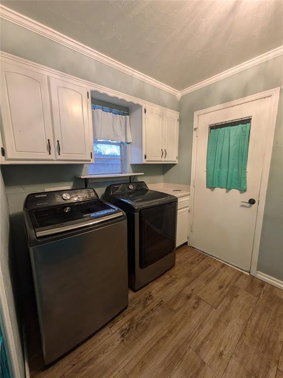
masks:
[[[280,87],[283,56],[256,65],[181,98],[179,163],[164,167],[164,182],[190,184],[194,112],[237,98]],[[258,270],[283,280],[283,90],[264,210]]]

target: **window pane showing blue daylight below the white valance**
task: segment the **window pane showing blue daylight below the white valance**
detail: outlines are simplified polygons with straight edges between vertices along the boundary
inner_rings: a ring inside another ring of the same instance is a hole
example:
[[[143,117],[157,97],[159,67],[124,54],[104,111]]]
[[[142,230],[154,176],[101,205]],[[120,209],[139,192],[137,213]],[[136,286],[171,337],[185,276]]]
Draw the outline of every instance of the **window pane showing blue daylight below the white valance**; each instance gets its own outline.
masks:
[[[88,165],[89,174],[124,173],[124,144],[110,140],[93,141],[94,163]]]

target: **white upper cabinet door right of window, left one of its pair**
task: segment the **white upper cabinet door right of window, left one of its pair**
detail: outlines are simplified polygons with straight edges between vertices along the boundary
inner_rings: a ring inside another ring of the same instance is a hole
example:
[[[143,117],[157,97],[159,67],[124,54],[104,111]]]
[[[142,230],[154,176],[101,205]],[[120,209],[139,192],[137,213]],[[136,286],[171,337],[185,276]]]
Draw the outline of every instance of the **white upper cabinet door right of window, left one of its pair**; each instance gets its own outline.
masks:
[[[162,161],[165,154],[163,111],[153,106],[146,106],[145,115],[145,161]]]

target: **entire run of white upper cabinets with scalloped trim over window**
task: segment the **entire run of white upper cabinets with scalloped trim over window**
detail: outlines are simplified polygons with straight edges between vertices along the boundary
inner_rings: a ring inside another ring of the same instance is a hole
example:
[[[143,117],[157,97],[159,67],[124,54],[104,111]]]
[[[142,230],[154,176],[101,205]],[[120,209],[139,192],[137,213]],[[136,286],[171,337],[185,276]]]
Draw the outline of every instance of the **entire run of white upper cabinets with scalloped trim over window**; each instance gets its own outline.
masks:
[[[88,97],[96,84],[4,52],[0,52],[0,82],[1,164],[93,161]],[[115,103],[111,89],[99,86],[97,91]],[[178,112],[131,98],[123,99],[129,104],[131,164],[176,163]]]

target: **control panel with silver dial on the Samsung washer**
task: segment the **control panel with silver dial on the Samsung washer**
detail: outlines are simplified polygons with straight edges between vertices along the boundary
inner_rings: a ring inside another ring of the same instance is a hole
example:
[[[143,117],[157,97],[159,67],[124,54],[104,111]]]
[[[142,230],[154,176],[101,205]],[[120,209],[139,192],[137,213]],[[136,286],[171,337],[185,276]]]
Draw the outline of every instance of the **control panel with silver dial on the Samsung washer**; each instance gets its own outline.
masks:
[[[97,198],[98,195],[92,188],[44,191],[41,193],[29,194],[26,199],[25,207],[28,209],[35,209]]]

